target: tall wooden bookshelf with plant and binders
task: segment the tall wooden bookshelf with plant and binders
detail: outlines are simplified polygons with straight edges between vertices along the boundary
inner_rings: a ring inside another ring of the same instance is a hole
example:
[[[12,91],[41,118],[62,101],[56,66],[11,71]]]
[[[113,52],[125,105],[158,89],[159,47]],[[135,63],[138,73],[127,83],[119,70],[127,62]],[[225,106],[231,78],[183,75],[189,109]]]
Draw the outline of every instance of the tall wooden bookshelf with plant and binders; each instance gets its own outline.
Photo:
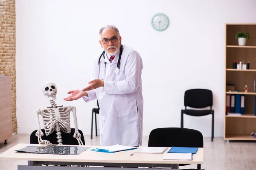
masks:
[[[238,45],[235,38],[237,32],[246,31],[250,40],[246,40],[245,46]],[[256,92],[254,92],[254,77],[256,77],[256,23],[229,23],[226,24],[226,84],[234,84],[235,90],[239,92],[225,92],[225,113],[224,113],[224,139],[225,140],[256,140],[251,138],[250,133],[256,130],[255,103]],[[237,63],[250,62],[250,69],[233,69],[233,61]],[[247,85],[248,92],[244,92]],[[226,91],[226,87],[225,87]],[[226,95],[244,95],[244,110],[242,116],[226,115]]]

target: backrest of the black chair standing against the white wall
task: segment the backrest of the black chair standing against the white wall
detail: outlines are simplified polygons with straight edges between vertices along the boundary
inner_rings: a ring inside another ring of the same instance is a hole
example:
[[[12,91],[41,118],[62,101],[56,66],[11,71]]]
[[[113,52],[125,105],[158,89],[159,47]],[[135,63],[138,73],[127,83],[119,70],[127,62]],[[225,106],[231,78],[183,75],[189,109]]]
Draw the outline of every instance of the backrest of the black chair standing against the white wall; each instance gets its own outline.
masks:
[[[212,106],[212,91],[208,89],[190,89],[185,91],[184,106],[191,108]]]

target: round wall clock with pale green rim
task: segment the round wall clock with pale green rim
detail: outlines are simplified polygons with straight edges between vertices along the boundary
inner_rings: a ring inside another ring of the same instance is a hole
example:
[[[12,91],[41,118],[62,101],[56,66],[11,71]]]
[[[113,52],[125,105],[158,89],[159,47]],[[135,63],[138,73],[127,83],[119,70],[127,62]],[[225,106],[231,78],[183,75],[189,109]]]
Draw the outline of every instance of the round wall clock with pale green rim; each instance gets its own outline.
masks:
[[[169,26],[169,18],[165,14],[156,14],[151,20],[152,27],[157,31],[164,31]]]

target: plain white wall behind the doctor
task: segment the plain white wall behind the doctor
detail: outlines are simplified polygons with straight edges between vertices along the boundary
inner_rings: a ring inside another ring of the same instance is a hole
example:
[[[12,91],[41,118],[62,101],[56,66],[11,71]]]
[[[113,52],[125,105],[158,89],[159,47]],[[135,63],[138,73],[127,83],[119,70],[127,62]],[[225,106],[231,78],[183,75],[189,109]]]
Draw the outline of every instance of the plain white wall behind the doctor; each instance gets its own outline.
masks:
[[[223,136],[225,23],[256,23],[255,7],[255,0],[16,0],[18,133],[37,128],[34,110],[49,106],[41,87],[53,81],[57,105],[76,106],[79,129],[90,134],[96,101],[63,98],[88,85],[93,58],[102,51],[98,31],[112,24],[143,59],[143,135],[180,127],[184,91],[207,88],[214,97],[215,136]],[[169,17],[166,31],[151,27],[158,12]],[[210,136],[211,116],[185,115],[184,127]]]

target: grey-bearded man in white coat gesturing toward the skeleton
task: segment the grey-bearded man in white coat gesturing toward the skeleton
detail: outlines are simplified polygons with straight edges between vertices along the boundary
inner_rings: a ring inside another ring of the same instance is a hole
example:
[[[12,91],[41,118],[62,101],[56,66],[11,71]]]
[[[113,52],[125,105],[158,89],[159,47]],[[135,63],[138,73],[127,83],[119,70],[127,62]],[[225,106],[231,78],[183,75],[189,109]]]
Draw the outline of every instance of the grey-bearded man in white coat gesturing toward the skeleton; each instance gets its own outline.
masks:
[[[122,45],[115,26],[99,31],[104,51],[93,62],[92,81],[83,90],[69,91],[64,100],[83,97],[85,102],[99,101],[100,144],[140,146],[143,130],[143,62],[132,48]],[[119,55],[122,53],[119,61]]]

